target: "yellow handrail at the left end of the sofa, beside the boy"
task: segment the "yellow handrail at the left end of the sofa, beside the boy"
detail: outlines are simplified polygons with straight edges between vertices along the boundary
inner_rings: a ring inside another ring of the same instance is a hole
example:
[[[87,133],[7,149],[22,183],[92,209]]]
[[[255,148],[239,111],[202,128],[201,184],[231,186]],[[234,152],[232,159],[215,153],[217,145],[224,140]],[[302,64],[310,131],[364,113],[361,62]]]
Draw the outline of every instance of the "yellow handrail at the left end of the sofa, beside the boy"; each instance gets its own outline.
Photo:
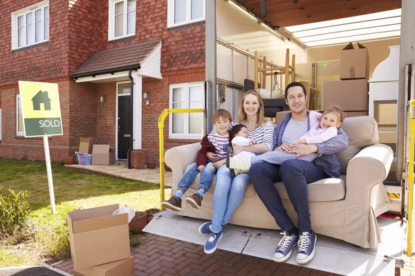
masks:
[[[204,112],[205,110],[201,108],[172,108],[165,109],[161,112],[160,117],[158,117],[158,154],[160,156],[160,203],[165,200],[165,178],[164,178],[164,121],[169,115],[169,113],[192,113],[192,112]],[[163,210],[163,206],[160,206]]]

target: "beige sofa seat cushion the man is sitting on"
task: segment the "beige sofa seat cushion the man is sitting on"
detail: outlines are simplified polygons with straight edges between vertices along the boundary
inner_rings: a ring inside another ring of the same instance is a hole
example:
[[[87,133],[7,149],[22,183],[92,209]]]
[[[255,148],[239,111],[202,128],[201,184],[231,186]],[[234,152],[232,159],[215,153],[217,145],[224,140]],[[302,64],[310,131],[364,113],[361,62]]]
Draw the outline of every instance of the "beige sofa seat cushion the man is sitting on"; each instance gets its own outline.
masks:
[[[281,199],[289,199],[282,182],[275,184]],[[339,178],[325,178],[308,184],[309,201],[335,201],[346,197],[346,175]]]

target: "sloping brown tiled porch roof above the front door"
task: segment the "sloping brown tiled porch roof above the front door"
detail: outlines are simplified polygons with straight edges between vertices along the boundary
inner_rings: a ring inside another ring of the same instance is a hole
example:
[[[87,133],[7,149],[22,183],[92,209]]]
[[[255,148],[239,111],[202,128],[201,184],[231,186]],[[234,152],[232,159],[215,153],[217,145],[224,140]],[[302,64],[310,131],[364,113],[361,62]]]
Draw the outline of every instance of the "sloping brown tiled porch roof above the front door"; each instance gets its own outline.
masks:
[[[151,55],[151,52],[160,43],[161,39],[157,39],[95,52],[80,68],[73,72],[71,77],[77,79],[78,77],[90,77],[129,69],[140,69],[142,62]]]

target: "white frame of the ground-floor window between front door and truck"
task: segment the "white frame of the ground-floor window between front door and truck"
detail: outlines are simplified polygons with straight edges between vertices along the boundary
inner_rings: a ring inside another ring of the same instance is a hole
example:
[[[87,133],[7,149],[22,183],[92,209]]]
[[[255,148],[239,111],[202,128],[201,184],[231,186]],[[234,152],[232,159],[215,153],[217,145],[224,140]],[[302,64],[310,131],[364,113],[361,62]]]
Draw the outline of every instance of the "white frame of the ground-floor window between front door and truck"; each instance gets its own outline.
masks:
[[[175,83],[170,84],[169,86],[169,108],[173,108],[173,89],[174,88],[185,88],[185,107],[189,108],[189,91],[191,87],[201,87],[202,91],[205,90],[203,82],[192,82],[192,83]],[[204,92],[202,92],[204,94]],[[205,106],[205,95],[202,95],[202,106]],[[183,113],[184,114],[184,133],[173,133],[173,115],[172,113],[169,114],[169,138],[171,139],[202,139],[203,135],[205,134],[205,120],[202,119],[202,128],[201,133],[199,134],[190,134],[189,133],[189,114],[190,113]]]

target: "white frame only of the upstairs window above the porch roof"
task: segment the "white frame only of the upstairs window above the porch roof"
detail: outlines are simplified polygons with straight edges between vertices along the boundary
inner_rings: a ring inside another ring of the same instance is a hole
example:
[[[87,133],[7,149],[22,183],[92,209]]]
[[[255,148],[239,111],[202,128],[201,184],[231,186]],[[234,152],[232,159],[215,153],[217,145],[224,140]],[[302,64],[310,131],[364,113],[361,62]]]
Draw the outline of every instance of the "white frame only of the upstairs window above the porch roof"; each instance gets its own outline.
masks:
[[[123,20],[123,34],[116,37],[116,3],[124,2],[124,20]],[[137,0],[136,0],[136,6],[134,8],[134,26],[133,26],[133,32],[131,34],[127,34],[127,8],[128,8],[128,0],[109,0],[108,1],[108,41],[116,40],[116,39],[123,39],[125,37],[133,37],[136,35],[136,20],[137,20]]]

